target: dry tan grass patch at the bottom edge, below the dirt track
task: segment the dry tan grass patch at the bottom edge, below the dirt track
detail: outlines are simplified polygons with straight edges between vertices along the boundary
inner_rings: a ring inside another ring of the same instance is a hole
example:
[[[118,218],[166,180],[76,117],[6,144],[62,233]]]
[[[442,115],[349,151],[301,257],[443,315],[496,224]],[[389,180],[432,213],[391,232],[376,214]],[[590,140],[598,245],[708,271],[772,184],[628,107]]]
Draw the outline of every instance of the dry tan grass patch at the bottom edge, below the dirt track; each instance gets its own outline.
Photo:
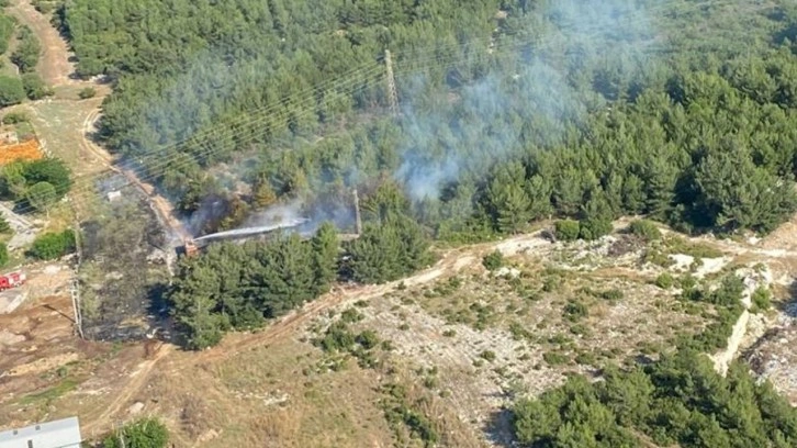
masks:
[[[218,437],[206,446],[389,446],[375,374],[355,362],[315,373],[322,358],[308,345],[285,340],[209,367],[212,380],[204,387],[223,391],[235,408],[207,426]]]

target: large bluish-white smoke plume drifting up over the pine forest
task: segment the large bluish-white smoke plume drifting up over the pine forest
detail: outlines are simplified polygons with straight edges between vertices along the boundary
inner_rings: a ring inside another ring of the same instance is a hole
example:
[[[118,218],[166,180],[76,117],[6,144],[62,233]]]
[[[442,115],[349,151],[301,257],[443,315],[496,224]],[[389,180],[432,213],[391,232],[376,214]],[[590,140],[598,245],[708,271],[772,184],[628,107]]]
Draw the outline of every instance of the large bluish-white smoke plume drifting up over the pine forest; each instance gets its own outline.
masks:
[[[425,94],[423,76],[404,81],[406,139],[398,149],[402,161],[394,178],[413,201],[438,199],[441,189],[458,181],[463,171],[483,173],[528,146],[559,143],[568,125],[577,126],[588,110],[604,107],[607,99],[576,87],[597,81],[577,79],[573,67],[599,61],[608,85],[596,87],[610,97],[613,89],[619,90],[611,80],[638,75],[651,63],[648,53],[655,32],[644,9],[635,10],[620,0],[547,3],[539,11],[547,22],[535,22],[535,30],[525,29],[529,26],[523,23],[526,18],[506,19],[520,33],[537,35],[535,44],[502,56],[514,59],[505,65],[513,70],[492,71],[465,85],[442,112],[429,112],[426,99],[416,100]],[[468,126],[451,123],[451,116],[468,117]]]

